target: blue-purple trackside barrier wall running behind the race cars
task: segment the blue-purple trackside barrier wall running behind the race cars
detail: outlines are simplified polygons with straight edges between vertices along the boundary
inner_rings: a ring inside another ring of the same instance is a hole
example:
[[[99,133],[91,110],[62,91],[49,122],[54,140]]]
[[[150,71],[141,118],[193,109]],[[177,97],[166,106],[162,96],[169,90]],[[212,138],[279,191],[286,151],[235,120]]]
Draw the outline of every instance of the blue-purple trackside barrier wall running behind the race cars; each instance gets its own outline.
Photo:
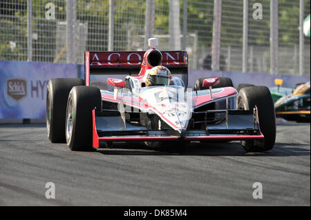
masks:
[[[126,75],[116,75],[124,79]],[[26,61],[0,61],[0,123],[44,122],[46,112],[46,86],[52,78],[84,78],[84,65],[66,63],[39,63]],[[109,88],[106,78],[92,76],[93,86]],[[194,88],[198,78],[229,77],[234,86],[250,83],[256,86],[274,86],[274,79],[283,79],[284,87],[310,81],[310,76],[255,74],[242,72],[215,72],[189,70],[188,88]],[[29,121],[29,120],[28,120]]]

